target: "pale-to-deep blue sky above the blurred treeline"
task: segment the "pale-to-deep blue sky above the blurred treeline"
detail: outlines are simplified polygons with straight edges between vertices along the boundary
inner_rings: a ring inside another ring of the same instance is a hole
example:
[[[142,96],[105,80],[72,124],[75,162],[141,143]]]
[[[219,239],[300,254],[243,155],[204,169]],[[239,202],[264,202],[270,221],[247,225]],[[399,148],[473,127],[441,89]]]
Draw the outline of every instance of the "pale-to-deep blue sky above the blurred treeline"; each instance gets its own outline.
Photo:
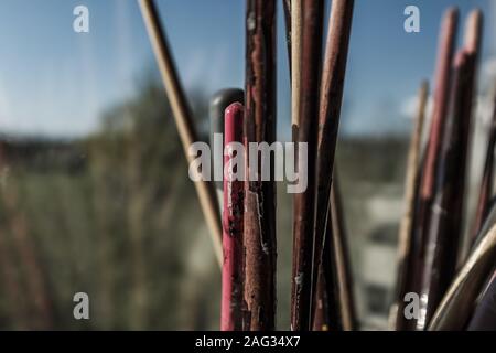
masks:
[[[484,61],[495,54],[490,0],[356,0],[342,118],[343,133],[406,132],[403,107],[431,78],[445,8],[486,14]],[[244,85],[244,0],[158,0],[181,78],[206,95]],[[73,31],[73,9],[90,11],[90,33]],[[421,32],[403,31],[403,9],[421,11]],[[492,8],[493,7],[493,8]],[[289,137],[284,29],[278,1],[278,109]],[[134,0],[0,1],[0,132],[76,137],[98,128],[110,106],[136,94],[139,77],[157,73]],[[172,121],[171,121],[172,124]]]

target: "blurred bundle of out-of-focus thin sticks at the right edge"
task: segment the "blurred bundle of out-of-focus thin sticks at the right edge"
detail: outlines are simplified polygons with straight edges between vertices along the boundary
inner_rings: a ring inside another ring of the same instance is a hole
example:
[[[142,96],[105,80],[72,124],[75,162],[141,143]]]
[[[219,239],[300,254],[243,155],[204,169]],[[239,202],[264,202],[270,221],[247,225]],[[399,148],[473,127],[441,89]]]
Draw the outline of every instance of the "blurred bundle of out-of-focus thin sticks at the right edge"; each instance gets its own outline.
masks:
[[[419,93],[399,234],[397,296],[391,310],[395,330],[496,329],[494,311],[492,315],[486,311],[487,299],[494,296],[496,265],[496,218],[490,213],[496,110],[476,214],[468,236],[463,233],[482,12],[468,14],[463,46],[456,51],[457,26],[459,10],[451,8],[441,25],[433,111],[422,158],[427,83]],[[411,295],[418,295],[417,312],[417,303],[408,299],[414,298]]]

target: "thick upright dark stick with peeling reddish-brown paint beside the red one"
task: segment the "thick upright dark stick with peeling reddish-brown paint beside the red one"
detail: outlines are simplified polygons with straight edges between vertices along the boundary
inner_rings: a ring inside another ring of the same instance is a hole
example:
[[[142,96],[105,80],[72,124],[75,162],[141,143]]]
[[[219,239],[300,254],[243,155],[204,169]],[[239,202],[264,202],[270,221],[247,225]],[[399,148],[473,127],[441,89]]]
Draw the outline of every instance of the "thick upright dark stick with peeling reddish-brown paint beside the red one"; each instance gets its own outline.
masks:
[[[245,146],[276,140],[276,1],[248,0],[246,13]],[[248,149],[245,173],[250,174]],[[276,185],[245,183],[244,330],[273,330],[276,321]],[[257,165],[260,168],[260,161]],[[251,171],[252,172],[252,171]],[[257,171],[260,175],[260,170]]]

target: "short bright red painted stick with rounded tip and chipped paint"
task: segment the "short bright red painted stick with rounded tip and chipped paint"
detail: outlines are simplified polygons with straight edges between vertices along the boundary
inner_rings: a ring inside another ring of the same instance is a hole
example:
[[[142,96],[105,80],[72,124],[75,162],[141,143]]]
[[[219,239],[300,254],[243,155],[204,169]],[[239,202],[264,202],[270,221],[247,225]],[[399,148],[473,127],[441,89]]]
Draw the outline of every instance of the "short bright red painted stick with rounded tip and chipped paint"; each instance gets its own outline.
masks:
[[[220,330],[242,329],[242,213],[244,181],[233,175],[231,142],[242,141],[244,107],[234,103],[226,109],[224,126],[223,293]]]

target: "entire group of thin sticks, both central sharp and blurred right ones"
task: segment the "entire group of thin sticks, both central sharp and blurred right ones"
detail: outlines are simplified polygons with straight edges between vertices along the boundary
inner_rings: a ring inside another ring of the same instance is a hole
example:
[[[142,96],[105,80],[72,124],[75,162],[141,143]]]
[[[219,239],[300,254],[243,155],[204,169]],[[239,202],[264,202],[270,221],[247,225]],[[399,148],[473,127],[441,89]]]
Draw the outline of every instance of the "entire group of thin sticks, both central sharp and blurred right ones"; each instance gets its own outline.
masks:
[[[187,151],[197,136],[187,101],[157,9],[152,0],[140,3]],[[224,133],[226,147],[276,141],[276,0],[246,1],[245,90],[219,92],[211,108],[212,131]],[[308,170],[308,188],[293,200],[291,329],[357,330],[348,239],[334,165],[354,0],[332,1],[325,41],[324,0],[282,0],[282,4],[292,138],[296,149],[301,143],[308,148],[308,157],[296,160],[298,169]],[[441,26],[433,113],[423,152],[427,82],[419,94],[399,234],[397,295],[391,310],[395,330],[484,329],[494,323],[484,308],[490,307],[495,291],[496,207],[490,205],[496,110],[471,247],[464,253],[460,244],[482,13],[470,14],[463,47],[455,53],[457,22],[457,10],[449,9]],[[196,190],[222,260],[222,330],[274,330],[274,161],[271,157],[269,180],[259,174],[254,180],[250,169],[260,168],[260,161],[246,150],[244,165],[238,165],[245,181],[229,174],[226,165],[233,163],[234,152],[224,151],[224,183],[218,185],[222,202],[211,182],[197,182]],[[223,160],[223,156],[214,159]],[[411,293],[421,298],[413,319],[406,314],[409,306],[405,299]]]

